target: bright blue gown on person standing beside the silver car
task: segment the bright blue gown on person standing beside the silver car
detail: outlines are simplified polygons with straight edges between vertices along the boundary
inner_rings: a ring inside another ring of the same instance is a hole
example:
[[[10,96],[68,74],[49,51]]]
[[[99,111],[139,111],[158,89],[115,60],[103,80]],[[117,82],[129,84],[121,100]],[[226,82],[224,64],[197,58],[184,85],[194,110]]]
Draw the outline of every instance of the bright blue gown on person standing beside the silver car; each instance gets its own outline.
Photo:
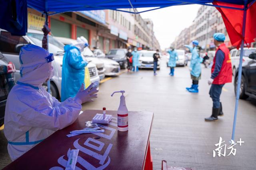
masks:
[[[61,101],[76,96],[84,82],[84,67],[88,64],[82,59],[81,52],[74,45],[66,45],[64,50]]]

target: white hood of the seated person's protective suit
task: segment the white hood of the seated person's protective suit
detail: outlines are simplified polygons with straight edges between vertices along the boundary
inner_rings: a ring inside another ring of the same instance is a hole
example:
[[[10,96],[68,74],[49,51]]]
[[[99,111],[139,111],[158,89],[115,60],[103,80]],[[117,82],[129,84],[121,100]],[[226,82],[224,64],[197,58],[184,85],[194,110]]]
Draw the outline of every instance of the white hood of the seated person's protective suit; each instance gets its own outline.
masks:
[[[50,53],[36,45],[28,44],[20,50],[20,76],[19,82],[40,87],[51,78],[53,67],[47,63],[46,57]]]

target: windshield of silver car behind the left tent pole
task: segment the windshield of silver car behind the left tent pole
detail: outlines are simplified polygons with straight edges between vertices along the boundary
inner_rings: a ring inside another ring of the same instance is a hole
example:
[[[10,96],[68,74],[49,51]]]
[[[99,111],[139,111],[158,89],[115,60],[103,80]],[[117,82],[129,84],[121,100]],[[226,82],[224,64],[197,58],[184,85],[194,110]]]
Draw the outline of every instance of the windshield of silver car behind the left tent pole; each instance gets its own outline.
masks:
[[[42,47],[43,34],[38,33],[27,33],[27,36],[35,43],[37,46]],[[49,52],[57,54],[64,52],[64,44],[60,43],[58,40],[54,39],[52,36],[49,37]]]

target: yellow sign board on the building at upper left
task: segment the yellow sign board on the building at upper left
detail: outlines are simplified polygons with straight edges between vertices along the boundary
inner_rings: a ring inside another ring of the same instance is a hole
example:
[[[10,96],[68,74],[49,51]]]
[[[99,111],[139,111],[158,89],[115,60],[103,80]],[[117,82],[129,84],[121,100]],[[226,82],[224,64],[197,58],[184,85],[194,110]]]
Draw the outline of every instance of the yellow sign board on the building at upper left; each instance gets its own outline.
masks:
[[[44,27],[44,17],[28,13],[28,28],[42,30]]]

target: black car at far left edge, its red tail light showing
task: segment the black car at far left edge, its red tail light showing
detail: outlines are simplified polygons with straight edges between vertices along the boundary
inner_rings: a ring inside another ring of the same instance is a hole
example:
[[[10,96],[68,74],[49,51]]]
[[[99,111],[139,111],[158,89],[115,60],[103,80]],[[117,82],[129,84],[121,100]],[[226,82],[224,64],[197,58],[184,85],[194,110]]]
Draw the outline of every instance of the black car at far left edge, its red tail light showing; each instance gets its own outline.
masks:
[[[0,126],[4,124],[6,100],[12,87],[15,85],[15,66],[0,52]]]

